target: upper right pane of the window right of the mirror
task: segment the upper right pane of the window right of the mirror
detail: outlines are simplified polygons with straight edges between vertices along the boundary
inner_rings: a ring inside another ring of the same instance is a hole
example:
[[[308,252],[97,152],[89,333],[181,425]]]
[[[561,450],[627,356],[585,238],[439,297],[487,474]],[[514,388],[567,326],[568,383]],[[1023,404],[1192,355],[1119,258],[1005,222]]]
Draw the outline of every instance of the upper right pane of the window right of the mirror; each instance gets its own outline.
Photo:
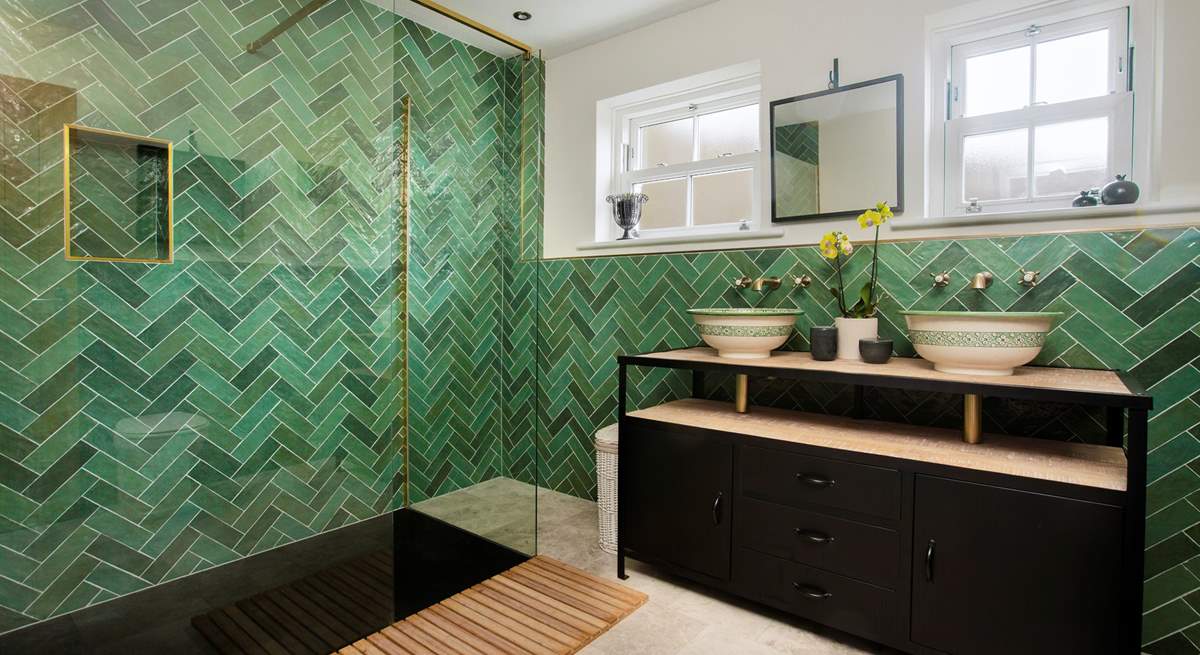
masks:
[[[1110,65],[1109,30],[1039,43],[1038,102],[1067,102],[1106,95]]]

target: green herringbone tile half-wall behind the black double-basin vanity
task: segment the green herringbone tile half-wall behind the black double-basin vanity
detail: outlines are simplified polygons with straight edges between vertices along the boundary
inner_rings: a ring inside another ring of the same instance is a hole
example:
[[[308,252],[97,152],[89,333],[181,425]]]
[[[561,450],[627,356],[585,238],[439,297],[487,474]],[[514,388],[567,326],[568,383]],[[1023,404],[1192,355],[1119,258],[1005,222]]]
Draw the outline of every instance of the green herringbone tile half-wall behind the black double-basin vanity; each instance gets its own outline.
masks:
[[[847,269],[863,283],[870,248]],[[1200,644],[1200,230],[1088,233],[1009,239],[931,240],[882,246],[880,280],[887,293],[880,331],[911,355],[901,308],[1052,310],[1066,316],[1050,333],[1039,363],[1130,371],[1153,395],[1148,475],[1145,641],[1153,653],[1196,653]],[[1042,283],[1016,284],[1021,266]],[[931,272],[953,283],[932,288]],[[997,274],[986,293],[966,288],[980,270]],[[763,296],[734,290],[738,275],[810,272],[806,290],[785,284]],[[806,313],[791,349],[806,349],[808,326],[833,323],[833,269],[815,248],[774,248],[634,256],[542,263],[539,323],[541,480],[558,491],[595,495],[596,428],[614,420],[613,356],[696,345],[684,313],[697,306],[778,305]],[[683,397],[690,378],[634,369],[634,407]],[[724,393],[716,389],[714,395]],[[755,385],[755,402],[847,411],[850,391]],[[961,402],[937,395],[871,398],[889,420],[953,423]],[[989,429],[1088,439],[1102,419],[1036,404],[985,407]],[[1184,633],[1184,631],[1187,631]]]

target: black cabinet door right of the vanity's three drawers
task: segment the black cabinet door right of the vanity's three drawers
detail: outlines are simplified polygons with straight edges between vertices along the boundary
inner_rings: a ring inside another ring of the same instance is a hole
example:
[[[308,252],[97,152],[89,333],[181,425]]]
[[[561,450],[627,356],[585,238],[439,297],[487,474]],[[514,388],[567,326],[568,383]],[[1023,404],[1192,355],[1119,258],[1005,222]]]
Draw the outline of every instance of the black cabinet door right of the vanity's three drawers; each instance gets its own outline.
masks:
[[[912,641],[965,654],[1115,653],[1122,510],[918,475]]]

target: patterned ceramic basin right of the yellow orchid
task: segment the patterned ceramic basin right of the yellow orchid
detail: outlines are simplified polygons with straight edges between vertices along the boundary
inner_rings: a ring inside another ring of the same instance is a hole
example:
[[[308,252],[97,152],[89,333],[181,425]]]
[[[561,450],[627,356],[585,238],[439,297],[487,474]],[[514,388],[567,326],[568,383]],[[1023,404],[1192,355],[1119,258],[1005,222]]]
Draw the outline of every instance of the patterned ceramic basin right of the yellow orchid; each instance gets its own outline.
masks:
[[[908,339],[934,368],[966,375],[1012,375],[1045,345],[1058,312],[900,312]]]

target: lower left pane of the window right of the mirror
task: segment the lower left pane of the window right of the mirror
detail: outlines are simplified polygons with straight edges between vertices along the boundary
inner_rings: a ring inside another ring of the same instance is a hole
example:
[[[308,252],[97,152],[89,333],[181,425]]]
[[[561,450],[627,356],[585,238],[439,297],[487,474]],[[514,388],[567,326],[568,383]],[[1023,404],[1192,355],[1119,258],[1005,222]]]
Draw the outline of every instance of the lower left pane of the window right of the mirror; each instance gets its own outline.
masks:
[[[962,139],[962,202],[1025,198],[1028,131],[1008,130]]]

